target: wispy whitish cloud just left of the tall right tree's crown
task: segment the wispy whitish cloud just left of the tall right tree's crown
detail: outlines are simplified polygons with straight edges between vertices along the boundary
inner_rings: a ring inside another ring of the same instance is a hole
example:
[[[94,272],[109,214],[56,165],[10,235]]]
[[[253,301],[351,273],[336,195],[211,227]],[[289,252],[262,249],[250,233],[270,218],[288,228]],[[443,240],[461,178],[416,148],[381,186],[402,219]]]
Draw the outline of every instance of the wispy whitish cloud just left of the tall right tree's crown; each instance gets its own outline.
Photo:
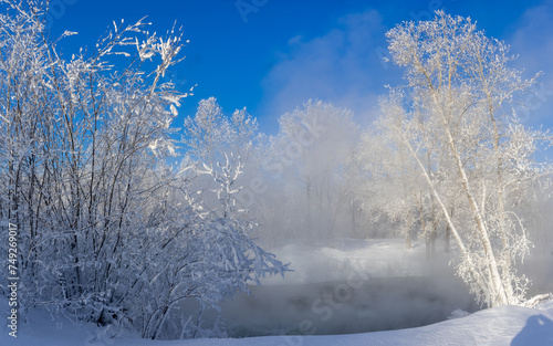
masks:
[[[397,74],[383,63],[386,28],[375,10],[348,14],[324,35],[289,40],[262,82],[263,113],[279,116],[309,98],[332,102],[355,112],[362,123],[374,118],[377,95]]]

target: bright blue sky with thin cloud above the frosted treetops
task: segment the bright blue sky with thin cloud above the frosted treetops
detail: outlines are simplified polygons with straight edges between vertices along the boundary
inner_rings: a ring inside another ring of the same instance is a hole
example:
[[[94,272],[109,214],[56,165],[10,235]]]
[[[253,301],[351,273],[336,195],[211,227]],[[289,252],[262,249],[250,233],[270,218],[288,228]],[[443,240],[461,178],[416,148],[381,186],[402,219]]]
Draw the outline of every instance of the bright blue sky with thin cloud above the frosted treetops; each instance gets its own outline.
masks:
[[[292,0],[52,0],[52,34],[76,31],[65,49],[92,46],[112,21],[145,15],[153,31],[176,21],[190,43],[169,76],[184,91],[198,84],[180,108],[194,115],[198,101],[215,96],[228,113],[247,107],[261,129],[274,134],[278,117],[306,99],[352,108],[361,124],[374,119],[384,85],[400,83],[385,63],[385,32],[431,11],[471,17],[489,35],[520,54],[529,75],[543,71],[525,122],[553,127],[553,0],[530,1],[292,1]]]

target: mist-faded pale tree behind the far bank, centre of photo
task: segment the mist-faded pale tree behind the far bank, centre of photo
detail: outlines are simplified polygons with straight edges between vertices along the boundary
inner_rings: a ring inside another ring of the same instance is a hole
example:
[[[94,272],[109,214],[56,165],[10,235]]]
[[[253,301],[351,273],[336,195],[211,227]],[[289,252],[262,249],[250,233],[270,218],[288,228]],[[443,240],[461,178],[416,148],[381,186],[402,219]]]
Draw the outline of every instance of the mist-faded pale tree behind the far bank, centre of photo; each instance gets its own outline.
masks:
[[[274,212],[265,221],[276,226],[272,232],[309,240],[347,234],[343,226],[356,212],[346,175],[358,137],[352,112],[309,101],[279,123],[261,167],[271,188],[268,208]]]

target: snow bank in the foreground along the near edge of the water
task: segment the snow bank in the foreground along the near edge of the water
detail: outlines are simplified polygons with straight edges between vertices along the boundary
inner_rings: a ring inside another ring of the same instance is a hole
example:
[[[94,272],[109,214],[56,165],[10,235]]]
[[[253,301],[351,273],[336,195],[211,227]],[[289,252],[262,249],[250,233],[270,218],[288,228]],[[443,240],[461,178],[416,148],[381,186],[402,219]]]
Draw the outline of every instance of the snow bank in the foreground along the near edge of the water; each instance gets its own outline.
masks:
[[[3,302],[6,305],[6,301]],[[553,302],[538,308],[502,306],[411,329],[332,336],[268,336],[241,339],[148,340],[123,334],[109,338],[92,324],[52,322],[48,314],[33,314],[20,326],[18,337],[2,328],[0,345],[25,346],[358,346],[358,345],[553,345]]]

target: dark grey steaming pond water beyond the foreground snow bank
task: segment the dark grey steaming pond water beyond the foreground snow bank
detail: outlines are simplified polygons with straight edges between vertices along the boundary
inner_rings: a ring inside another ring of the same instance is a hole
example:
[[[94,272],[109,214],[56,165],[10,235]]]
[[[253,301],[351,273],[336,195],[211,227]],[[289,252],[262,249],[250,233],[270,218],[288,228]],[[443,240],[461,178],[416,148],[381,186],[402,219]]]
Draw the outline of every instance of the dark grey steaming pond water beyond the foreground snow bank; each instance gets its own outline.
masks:
[[[222,312],[229,335],[246,337],[409,328],[479,308],[466,285],[439,276],[253,286],[253,296],[226,302]]]

